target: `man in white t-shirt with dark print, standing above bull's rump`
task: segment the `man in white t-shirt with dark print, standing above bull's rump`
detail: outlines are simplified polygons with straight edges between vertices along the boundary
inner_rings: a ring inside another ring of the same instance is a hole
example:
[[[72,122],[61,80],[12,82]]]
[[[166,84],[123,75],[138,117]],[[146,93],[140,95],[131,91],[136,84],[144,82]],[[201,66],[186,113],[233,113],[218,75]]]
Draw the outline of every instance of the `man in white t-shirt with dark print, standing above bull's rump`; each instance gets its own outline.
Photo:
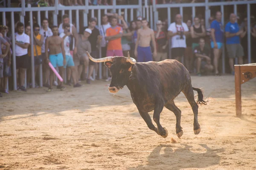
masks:
[[[182,22],[182,16],[175,16],[175,23],[171,23],[168,28],[168,36],[172,37],[172,58],[181,61],[186,48],[186,35],[189,34],[189,28]]]

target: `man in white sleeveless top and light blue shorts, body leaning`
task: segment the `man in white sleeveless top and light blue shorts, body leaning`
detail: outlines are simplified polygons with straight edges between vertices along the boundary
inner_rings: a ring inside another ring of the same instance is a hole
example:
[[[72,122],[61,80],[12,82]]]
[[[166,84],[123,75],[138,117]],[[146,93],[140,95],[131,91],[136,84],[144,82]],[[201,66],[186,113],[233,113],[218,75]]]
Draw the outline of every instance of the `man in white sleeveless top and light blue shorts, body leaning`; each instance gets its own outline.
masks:
[[[81,85],[77,82],[77,77],[78,77],[78,72],[77,69],[75,67],[74,61],[73,61],[73,57],[70,54],[70,24],[64,24],[64,32],[62,32],[60,34],[60,37],[63,39],[64,41],[64,50],[65,50],[65,54],[66,54],[66,64],[64,65],[64,68],[69,67],[72,71],[72,79],[73,79],[73,83],[74,83],[74,88],[77,87],[81,87]],[[70,79],[68,80],[68,82],[70,82]]]

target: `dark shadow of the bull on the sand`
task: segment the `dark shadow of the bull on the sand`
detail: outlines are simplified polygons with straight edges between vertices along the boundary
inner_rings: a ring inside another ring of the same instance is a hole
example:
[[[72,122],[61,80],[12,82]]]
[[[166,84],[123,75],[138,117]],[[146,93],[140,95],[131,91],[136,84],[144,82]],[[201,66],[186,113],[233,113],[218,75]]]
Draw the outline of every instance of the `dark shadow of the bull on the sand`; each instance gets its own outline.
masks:
[[[219,164],[221,156],[216,152],[222,152],[223,149],[212,150],[206,144],[199,144],[206,151],[195,153],[190,150],[192,146],[181,144],[185,147],[179,147],[175,150],[175,145],[161,144],[154,148],[148,156],[148,164],[130,168],[129,170],[181,170],[184,168],[206,168]],[[176,148],[176,147],[175,147]],[[163,152],[161,152],[163,150]],[[161,154],[161,153],[163,154]]]

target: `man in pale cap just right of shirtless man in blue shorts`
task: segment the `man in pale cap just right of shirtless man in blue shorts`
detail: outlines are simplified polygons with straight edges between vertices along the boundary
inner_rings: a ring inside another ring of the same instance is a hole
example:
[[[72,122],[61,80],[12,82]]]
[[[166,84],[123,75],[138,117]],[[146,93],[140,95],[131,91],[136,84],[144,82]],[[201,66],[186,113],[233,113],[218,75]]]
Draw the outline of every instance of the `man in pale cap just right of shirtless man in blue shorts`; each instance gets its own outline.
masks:
[[[157,21],[157,31],[154,31],[156,44],[157,44],[157,56],[154,57],[154,61],[162,61],[167,59],[166,47],[168,45],[167,34],[163,31],[162,21]]]

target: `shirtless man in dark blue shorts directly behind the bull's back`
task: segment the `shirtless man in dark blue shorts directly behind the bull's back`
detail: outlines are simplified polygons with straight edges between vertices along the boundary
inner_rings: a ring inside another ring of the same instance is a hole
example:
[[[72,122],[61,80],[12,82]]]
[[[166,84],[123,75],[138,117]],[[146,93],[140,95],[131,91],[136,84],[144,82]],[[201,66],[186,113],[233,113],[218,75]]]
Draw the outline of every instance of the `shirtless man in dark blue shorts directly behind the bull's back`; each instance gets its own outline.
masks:
[[[137,31],[138,37],[135,45],[134,55],[137,57],[138,62],[153,61],[150,42],[153,42],[154,53],[153,56],[157,56],[157,45],[154,38],[154,31],[148,28],[148,21],[143,18],[143,28]]]

